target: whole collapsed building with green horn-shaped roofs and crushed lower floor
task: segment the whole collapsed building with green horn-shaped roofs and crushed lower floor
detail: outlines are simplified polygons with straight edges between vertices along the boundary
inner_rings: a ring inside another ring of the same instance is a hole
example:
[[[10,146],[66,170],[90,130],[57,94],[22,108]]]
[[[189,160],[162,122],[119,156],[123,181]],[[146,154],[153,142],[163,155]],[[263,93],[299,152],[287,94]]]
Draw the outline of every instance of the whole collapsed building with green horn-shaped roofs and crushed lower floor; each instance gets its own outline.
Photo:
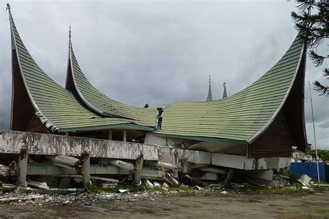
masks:
[[[300,35],[267,73],[237,94],[227,97],[224,84],[221,100],[212,100],[209,90],[207,101],[153,109],[119,103],[96,89],[78,64],[71,33],[65,87],[58,85],[33,60],[10,6],[8,12],[12,108],[10,130],[0,133],[1,162],[17,159],[22,147],[31,159],[52,161],[43,166],[26,163],[26,173],[18,173],[23,182],[26,174],[77,175],[81,172],[67,168],[74,165],[58,156],[79,159],[83,152],[88,157],[83,160],[87,182],[91,175],[102,174],[162,179],[165,173],[158,167],[181,173],[197,169],[203,173],[199,179],[216,180],[230,168],[287,167],[292,146],[302,151],[307,147],[306,48]]]

